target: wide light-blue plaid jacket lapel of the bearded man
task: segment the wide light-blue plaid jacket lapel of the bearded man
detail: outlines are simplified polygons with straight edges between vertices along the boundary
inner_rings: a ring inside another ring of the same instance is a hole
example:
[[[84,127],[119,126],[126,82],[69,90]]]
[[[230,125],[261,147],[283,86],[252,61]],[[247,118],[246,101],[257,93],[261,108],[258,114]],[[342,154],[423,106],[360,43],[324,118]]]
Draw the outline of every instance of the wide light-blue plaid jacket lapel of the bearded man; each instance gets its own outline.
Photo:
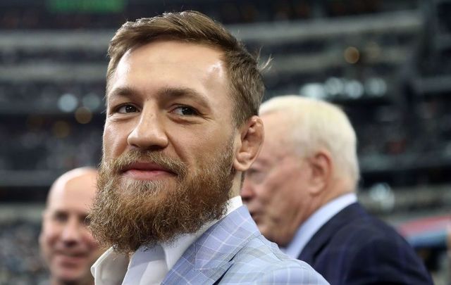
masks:
[[[214,284],[245,243],[259,235],[245,206],[223,217],[202,234],[175,263],[162,284]]]

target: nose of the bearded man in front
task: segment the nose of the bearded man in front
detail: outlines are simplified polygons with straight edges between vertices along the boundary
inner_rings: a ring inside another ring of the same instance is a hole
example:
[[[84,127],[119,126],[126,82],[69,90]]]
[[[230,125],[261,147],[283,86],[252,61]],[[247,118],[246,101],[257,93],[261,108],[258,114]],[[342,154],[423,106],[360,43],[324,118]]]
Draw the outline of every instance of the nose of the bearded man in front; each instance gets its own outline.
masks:
[[[128,135],[128,145],[145,150],[165,148],[168,145],[162,118],[153,108],[144,108],[135,128]]]

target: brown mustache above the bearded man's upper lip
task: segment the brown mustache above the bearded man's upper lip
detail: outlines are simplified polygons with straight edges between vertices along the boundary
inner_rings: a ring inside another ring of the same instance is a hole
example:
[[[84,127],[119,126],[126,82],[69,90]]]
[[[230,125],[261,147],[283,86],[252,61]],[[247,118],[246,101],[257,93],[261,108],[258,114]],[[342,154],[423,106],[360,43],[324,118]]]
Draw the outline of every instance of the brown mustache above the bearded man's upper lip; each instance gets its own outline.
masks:
[[[145,151],[140,149],[132,149],[121,156],[109,162],[106,162],[102,157],[101,167],[108,167],[114,175],[120,175],[127,167],[133,163],[154,163],[169,170],[180,178],[187,175],[187,165],[175,158],[170,158],[161,151]]]

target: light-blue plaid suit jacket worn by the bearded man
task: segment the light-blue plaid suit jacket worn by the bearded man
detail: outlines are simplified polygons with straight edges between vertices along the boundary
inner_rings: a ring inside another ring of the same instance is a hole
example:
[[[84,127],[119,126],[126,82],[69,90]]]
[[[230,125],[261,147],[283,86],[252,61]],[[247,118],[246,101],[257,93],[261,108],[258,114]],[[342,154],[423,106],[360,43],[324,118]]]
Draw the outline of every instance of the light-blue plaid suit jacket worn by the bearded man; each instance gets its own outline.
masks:
[[[262,236],[245,206],[210,227],[162,284],[328,284]]]

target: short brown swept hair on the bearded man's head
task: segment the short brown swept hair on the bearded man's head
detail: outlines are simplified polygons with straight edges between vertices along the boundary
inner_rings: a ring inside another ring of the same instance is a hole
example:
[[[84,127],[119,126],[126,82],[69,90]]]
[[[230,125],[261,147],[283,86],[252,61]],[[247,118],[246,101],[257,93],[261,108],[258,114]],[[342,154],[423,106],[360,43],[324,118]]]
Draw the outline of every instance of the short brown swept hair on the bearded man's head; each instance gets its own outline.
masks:
[[[109,45],[107,92],[109,80],[124,53],[156,39],[195,42],[223,51],[222,59],[228,68],[230,91],[233,96],[233,119],[236,125],[240,126],[252,115],[258,115],[264,94],[258,57],[252,56],[245,46],[221,24],[197,11],[163,13],[153,18],[141,18],[135,22],[123,24]]]

